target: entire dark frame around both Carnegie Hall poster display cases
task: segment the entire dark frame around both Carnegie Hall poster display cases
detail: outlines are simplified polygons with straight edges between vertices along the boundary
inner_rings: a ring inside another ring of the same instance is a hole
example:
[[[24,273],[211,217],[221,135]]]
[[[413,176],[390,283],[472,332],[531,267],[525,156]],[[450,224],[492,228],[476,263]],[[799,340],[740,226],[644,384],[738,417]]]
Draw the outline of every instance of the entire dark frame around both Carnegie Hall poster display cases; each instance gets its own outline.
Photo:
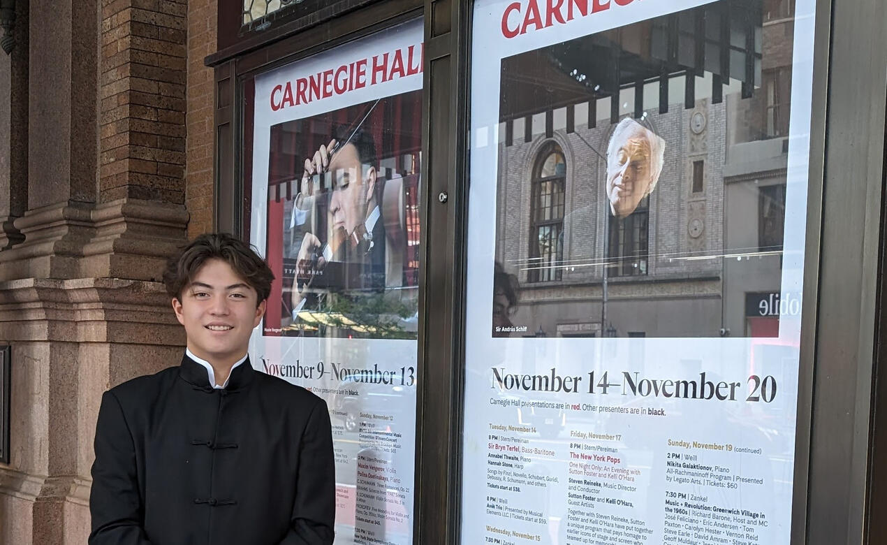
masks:
[[[883,179],[887,16],[881,0],[819,0],[791,543],[887,542]],[[226,31],[220,0],[220,35]],[[216,69],[216,228],[245,233],[248,77],[420,14],[425,22],[414,542],[458,543],[465,370],[472,2],[339,2],[208,57]],[[230,17],[229,17],[230,19]],[[225,24],[231,27],[228,20]],[[881,409],[881,410],[877,410]]]

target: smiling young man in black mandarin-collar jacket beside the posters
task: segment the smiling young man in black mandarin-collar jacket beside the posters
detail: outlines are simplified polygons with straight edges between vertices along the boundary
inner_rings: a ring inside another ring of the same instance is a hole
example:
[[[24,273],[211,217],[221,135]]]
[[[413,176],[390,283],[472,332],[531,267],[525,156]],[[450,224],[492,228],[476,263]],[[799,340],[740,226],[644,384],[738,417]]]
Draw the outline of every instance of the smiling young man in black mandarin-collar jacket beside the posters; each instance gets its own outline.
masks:
[[[164,282],[187,350],[180,366],[102,398],[90,545],[333,542],[326,404],[247,356],[273,278],[225,234],[170,261]]]

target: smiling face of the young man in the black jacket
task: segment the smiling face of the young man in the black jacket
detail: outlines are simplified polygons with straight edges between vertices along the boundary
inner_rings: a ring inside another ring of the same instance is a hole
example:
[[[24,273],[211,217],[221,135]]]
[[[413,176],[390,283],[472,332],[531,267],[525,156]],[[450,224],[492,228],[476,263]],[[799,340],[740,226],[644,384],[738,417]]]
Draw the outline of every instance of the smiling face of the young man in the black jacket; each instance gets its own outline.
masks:
[[[212,364],[234,363],[247,354],[249,336],[265,313],[255,289],[221,259],[210,259],[172,300],[188,349]]]

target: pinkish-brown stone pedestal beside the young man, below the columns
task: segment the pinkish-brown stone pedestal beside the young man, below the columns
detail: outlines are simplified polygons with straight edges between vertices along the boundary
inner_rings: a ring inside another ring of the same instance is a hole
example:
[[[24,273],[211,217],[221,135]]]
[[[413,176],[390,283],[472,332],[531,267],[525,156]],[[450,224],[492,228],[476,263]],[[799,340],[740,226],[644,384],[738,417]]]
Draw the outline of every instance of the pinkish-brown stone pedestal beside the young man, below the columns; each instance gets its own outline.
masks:
[[[14,415],[0,542],[84,543],[101,394],[176,365],[183,330],[157,282],[29,278],[0,282],[0,337]]]

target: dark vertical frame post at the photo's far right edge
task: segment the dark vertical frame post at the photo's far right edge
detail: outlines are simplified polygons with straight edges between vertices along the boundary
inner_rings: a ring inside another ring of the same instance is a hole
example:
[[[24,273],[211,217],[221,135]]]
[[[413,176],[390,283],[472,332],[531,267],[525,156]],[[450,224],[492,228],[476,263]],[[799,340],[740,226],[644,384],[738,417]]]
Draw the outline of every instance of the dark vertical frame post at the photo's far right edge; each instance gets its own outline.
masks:
[[[884,474],[872,407],[887,65],[855,60],[887,58],[882,4],[817,5],[795,472],[806,509],[795,509],[793,543],[881,543],[867,530],[887,522],[867,503],[882,497],[870,472]]]

